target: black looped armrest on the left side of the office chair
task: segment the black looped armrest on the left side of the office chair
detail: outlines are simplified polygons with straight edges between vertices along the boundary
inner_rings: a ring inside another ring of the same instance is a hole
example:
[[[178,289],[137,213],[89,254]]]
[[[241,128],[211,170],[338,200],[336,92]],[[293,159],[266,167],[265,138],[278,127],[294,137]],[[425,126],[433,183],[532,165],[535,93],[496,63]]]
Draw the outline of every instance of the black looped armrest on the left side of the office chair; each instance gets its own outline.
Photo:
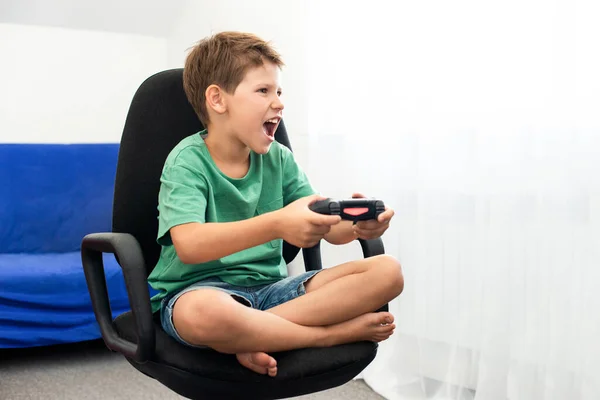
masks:
[[[115,254],[125,278],[129,305],[136,325],[137,344],[121,338],[114,328],[102,253]],[[155,336],[144,257],[138,241],[128,233],[92,233],[81,243],[81,261],[92,307],[106,346],[137,362],[154,355]]]

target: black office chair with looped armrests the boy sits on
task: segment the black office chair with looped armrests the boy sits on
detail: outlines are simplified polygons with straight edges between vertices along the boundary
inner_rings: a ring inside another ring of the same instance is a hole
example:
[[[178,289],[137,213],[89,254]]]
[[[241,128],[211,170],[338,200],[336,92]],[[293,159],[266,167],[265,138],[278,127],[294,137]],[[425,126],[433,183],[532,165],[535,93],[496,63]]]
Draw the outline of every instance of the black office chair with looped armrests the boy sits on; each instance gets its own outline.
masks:
[[[163,331],[158,315],[152,315],[147,277],[160,252],[156,243],[160,174],[171,149],[203,129],[186,99],[182,77],[182,69],[164,71],[148,78],[136,92],[121,138],[113,233],[93,233],[82,242],[83,268],[104,342],[142,373],[191,399],[278,399],[348,382],[375,358],[376,343],[273,353],[278,374],[269,377],[242,367],[234,355],[178,343]],[[283,122],[275,138],[290,147]],[[383,254],[380,239],[360,243],[365,257]],[[114,321],[103,252],[114,253],[123,268],[131,305],[130,312]],[[298,252],[284,242],[286,262]],[[307,270],[321,268],[318,245],[303,249],[303,255]]]

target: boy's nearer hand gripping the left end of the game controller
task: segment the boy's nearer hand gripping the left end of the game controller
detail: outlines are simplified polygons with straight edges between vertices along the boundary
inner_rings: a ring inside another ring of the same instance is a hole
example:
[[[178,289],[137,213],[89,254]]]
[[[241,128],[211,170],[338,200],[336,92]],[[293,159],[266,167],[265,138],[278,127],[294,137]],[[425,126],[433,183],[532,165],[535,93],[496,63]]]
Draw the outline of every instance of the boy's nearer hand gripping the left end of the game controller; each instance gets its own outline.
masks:
[[[300,248],[316,245],[329,232],[331,226],[341,221],[339,215],[323,215],[308,207],[326,197],[312,195],[303,197],[276,211],[279,237]]]

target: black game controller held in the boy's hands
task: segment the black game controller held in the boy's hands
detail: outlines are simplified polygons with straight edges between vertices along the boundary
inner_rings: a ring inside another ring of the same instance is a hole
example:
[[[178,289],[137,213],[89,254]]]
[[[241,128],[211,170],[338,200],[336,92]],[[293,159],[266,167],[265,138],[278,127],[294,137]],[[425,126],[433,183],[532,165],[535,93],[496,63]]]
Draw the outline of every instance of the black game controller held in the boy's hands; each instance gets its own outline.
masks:
[[[347,221],[368,221],[377,219],[379,214],[385,211],[385,205],[381,200],[375,199],[347,199],[319,200],[309,206],[309,208],[319,214],[339,215]]]

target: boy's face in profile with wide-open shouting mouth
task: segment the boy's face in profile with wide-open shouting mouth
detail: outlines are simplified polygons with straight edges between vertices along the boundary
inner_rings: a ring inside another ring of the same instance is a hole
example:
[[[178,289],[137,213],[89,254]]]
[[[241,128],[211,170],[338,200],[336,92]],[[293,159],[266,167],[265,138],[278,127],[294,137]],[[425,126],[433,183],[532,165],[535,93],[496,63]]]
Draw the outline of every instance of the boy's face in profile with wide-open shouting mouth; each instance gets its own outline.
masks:
[[[265,62],[250,69],[227,96],[229,126],[238,140],[258,154],[269,151],[283,112],[279,67]]]

